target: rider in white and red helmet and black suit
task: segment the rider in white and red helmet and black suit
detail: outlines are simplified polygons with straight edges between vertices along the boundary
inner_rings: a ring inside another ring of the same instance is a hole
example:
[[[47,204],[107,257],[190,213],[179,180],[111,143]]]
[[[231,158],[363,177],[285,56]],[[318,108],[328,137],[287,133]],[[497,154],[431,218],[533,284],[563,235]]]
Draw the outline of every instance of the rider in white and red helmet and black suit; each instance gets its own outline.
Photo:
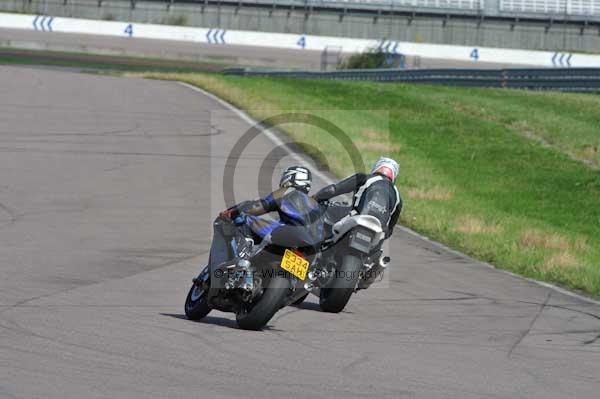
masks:
[[[388,239],[402,211],[402,198],[395,186],[399,171],[400,167],[395,160],[381,157],[373,165],[371,173],[356,173],[349,176],[339,183],[322,188],[313,198],[322,202],[353,192],[352,212],[379,219],[385,232],[385,239]],[[379,257],[382,256],[380,249],[381,246],[373,251],[379,251]],[[368,288],[384,268],[382,262],[375,262],[369,275],[360,280],[358,288]]]

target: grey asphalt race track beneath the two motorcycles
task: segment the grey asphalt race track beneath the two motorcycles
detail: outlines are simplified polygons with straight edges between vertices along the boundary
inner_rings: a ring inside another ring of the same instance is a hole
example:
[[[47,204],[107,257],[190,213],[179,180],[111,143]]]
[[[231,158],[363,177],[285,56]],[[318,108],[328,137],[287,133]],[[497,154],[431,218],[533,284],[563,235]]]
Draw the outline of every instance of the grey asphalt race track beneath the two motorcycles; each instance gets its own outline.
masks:
[[[186,320],[247,123],[173,82],[0,67],[0,88],[0,398],[598,397],[600,305],[402,231],[389,286],[341,314]],[[241,193],[272,148],[240,157]]]

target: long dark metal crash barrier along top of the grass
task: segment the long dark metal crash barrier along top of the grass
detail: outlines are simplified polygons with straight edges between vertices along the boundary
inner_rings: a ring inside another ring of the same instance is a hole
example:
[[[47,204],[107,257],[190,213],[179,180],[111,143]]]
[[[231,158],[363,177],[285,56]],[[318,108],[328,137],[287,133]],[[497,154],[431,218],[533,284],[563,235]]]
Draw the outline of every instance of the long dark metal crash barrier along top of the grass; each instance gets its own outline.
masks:
[[[228,75],[371,80],[530,90],[600,91],[600,68],[543,69],[356,69],[330,72],[231,68]]]

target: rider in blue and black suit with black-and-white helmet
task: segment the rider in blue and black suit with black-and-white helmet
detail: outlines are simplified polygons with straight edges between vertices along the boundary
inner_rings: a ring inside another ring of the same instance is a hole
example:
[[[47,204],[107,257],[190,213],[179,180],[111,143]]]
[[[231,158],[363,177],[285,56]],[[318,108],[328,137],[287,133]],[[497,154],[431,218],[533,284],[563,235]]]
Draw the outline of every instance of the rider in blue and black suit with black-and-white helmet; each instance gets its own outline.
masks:
[[[282,173],[277,190],[264,198],[244,201],[221,212],[213,223],[209,264],[218,265],[231,258],[228,242],[232,231],[228,231],[224,221],[233,222],[236,226],[248,226],[249,235],[258,238],[264,238],[283,226],[322,230],[322,225],[317,223],[320,220],[319,204],[308,195],[311,184],[312,174],[308,168],[290,166]],[[279,220],[261,217],[271,212],[277,212]],[[316,235],[319,234],[322,235],[322,231],[316,231]]]

